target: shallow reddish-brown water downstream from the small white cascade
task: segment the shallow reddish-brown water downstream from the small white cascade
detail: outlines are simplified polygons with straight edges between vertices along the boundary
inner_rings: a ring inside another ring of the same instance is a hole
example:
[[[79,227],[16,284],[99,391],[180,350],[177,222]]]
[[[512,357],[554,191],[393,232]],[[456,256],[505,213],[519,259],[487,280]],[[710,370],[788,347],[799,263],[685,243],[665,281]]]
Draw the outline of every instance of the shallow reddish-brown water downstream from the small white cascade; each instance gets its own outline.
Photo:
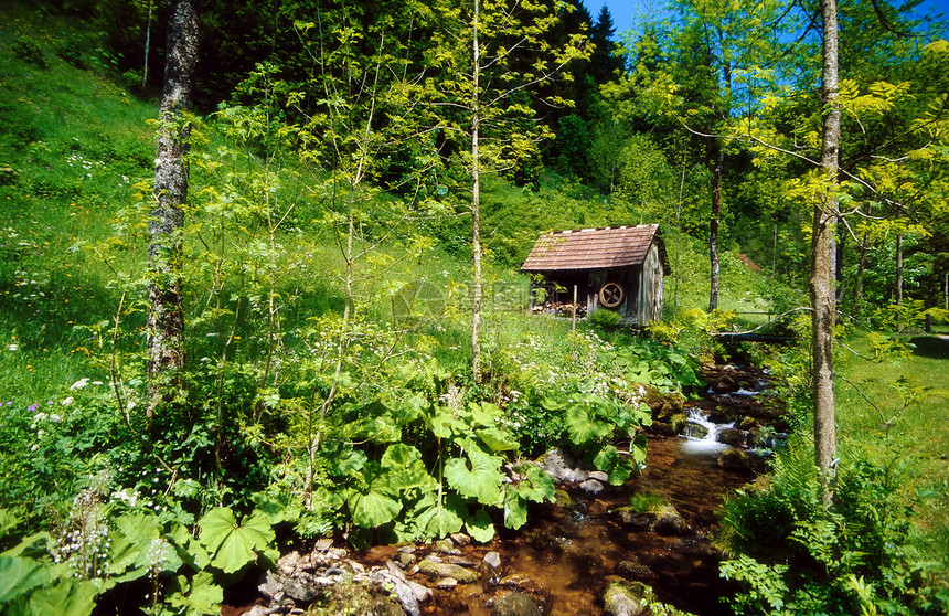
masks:
[[[747,482],[715,466],[716,446],[695,438],[651,437],[646,471],[625,486],[596,497],[572,490],[574,503],[542,506],[529,525],[488,545],[470,545],[463,556],[480,562],[501,554],[500,573],[474,584],[436,590],[423,605],[429,615],[491,614],[491,599],[511,590],[542,599],[551,615],[603,614],[600,597],[614,580],[640,580],[659,598],[699,616],[728,614],[719,598],[733,588],[718,577],[718,556],[710,544],[724,493]],[[671,502],[690,525],[682,535],[662,535],[626,527],[610,511],[629,505],[636,492],[653,492]],[[383,563],[395,548],[380,546],[360,559]],[[482,578],[483,580],[483,578]]]

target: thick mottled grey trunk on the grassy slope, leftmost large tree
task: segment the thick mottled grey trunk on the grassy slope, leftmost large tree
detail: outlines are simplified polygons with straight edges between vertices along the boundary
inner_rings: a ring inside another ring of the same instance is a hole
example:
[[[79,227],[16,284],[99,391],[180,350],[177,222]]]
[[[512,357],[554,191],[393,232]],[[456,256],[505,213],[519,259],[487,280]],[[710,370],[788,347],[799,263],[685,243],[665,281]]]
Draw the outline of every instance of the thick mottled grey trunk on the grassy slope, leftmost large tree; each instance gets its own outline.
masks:
[[[184,111],[192,103],[198,64],[198,12],[194,0],[171,6],[161,126],[154,166],[154,208],[148,222],[148,375],[149,415],[175,395],[184,368],[184,310],[181,296],[181,232],[188,199],[191,128]]]

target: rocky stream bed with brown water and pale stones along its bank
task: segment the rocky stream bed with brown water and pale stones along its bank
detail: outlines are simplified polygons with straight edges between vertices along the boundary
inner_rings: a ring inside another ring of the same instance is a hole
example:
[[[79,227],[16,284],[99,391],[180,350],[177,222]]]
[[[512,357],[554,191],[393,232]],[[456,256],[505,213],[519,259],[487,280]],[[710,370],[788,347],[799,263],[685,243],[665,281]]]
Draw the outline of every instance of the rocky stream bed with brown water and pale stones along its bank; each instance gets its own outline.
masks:
[[[711,538],[725,495],[766,468],[756,447],[786,429],[760,371],[706,369],[695,401],[657,399],[646,470],[609,486],[554,450],[537,460],[557,501],[488,544],[455,534],[431,544],[349,549],[322,539],[284,555],[222,615],[636,615],[652,596],[697,616],[727,614]],[[636,493],[662,497],[648,512]]]

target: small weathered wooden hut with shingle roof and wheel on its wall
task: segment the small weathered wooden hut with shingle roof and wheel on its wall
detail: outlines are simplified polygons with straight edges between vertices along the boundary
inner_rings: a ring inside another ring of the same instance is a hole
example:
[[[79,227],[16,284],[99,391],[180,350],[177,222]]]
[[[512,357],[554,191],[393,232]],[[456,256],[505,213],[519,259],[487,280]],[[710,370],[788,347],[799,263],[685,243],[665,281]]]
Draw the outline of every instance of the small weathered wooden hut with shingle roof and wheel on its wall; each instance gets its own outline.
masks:
[[[662,319],[662,283],[671,272],[655,224],[545,233],[521,270],[540,274],[534,286],[553,302],[571,302],[576,287],[586,312],[615,310],[640,325]]]

